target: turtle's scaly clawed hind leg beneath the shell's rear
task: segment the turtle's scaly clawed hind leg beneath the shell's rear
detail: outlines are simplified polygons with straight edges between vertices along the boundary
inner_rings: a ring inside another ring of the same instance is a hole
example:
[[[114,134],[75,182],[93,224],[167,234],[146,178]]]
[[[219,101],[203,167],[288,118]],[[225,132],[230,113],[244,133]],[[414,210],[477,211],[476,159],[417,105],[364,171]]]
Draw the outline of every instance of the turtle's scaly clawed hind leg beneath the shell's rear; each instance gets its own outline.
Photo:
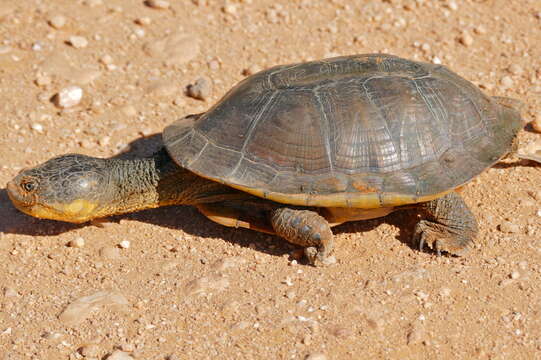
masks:
[[[413,235],[419,249],[427,244],[438,255],[464,255],[477,236],[477,222],[464,200],[452,192],[421,207],[426,218],[417,223]]]

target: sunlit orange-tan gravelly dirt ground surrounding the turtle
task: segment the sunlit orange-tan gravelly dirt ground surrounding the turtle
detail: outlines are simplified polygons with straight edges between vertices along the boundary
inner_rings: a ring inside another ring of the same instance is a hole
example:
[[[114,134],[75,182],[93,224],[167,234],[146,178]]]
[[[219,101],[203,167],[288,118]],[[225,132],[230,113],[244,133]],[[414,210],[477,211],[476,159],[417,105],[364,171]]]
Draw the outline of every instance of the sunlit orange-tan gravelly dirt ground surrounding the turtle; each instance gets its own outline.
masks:
[[[532,121],[540,45],[538,0],[3,0],[0,183],[68,152],[149,154],[247,74],[336,55],[441,62]],[[61,109],[68,86],[82,100]],[[540,170],[506,160],[466,186],[465,257],[418,251],[402,212],[336,228],[326,268],[193,208],[76,226],[2,189],[0,359],[541,358]]]

